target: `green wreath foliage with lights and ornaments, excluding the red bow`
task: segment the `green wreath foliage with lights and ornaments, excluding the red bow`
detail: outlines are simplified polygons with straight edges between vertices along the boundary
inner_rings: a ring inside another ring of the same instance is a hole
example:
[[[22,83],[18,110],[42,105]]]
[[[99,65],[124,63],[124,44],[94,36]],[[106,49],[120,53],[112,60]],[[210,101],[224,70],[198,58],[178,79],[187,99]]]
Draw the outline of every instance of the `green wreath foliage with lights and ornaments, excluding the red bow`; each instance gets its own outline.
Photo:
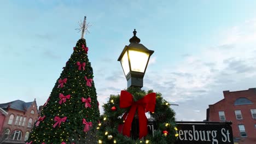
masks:
[[[131,87],[126,91],[133,95],[134,101],[153,92],[153,90],[146,92],[140,88]],[[119,98],[120,95],[110,95],[108,103],[103,105],[104,114],[101,116],[97,127],[98,143],[174,143],[176,136],[178,136],[177,128],[175,127],[175,113],[170,108],[170,104],[162,98],[161,93],[156,93],[155,112],[150,113],[150,116],[155,119],[158,129],[154,131],[154,136],[148,134],[141,140],[133,140],[119,133],[118,126],[124,123],[122,116],[125,112],[129,112],[129,109],[120,109]],[[115,110],[112,110],[113,108]],[[164,131],[167,131],[167,134],[164,134]]]

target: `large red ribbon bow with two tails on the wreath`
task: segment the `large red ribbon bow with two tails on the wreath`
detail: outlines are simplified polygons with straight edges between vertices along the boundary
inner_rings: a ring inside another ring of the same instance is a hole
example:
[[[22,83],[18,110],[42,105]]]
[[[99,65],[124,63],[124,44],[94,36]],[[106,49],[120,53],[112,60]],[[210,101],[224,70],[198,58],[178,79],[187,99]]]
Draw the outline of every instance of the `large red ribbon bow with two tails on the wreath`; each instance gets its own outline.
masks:
[[[148,119],[145,112],[155,111],[155,93],[149,93],[145,95],[142,99],[138,101],[133,101],[132,94],[127,91],[121,91],[120,94],[120,108],[127,108],[131,106],[128,116],[125,119],[123,135],[130,137],[130,130],[133,117],[138,109],[138,119],[139,119],[139,139],[148,134]]]

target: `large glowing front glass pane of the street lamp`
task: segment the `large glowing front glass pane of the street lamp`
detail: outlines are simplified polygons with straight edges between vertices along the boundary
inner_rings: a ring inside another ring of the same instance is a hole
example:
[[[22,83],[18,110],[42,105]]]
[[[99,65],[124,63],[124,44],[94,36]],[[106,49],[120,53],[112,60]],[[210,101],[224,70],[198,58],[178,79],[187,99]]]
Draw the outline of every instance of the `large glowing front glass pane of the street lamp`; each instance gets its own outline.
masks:
[[[129,58],[131,63],[131,70],[144,73],[149,53],[129,50]]]

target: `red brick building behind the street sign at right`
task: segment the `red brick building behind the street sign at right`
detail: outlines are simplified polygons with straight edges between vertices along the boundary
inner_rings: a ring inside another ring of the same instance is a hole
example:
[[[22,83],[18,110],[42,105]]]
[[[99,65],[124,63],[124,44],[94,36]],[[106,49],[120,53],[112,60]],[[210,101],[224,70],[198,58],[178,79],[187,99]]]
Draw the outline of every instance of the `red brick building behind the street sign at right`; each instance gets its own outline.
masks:
[[[232,121],[235,143],[256,143],[256,88],[223,91],[224,99],[209,105],[206,121]]]

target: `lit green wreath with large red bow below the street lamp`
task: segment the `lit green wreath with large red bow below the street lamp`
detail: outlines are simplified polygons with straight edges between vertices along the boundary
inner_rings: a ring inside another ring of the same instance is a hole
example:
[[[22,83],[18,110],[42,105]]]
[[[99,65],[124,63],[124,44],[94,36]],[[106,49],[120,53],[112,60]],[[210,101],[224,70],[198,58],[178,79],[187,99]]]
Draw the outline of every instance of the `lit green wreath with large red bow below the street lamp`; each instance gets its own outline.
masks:
[[[161,93],[153,90],[129,87],[120,95],[110,95],[103,108],[98,143],[167,144],[178,136],[174,111]]]

